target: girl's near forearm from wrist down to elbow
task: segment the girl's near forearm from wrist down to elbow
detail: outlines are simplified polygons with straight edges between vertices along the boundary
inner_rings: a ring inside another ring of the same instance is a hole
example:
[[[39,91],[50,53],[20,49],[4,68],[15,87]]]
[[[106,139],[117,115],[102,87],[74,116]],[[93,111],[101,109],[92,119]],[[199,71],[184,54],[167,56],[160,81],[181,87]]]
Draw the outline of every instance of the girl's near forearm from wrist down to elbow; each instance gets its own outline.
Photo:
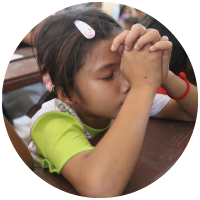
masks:
[[[120,195],[130,179],[155,94],[149,87],[131,89],[113,125],[86,159],[91,183],[105,196]]]

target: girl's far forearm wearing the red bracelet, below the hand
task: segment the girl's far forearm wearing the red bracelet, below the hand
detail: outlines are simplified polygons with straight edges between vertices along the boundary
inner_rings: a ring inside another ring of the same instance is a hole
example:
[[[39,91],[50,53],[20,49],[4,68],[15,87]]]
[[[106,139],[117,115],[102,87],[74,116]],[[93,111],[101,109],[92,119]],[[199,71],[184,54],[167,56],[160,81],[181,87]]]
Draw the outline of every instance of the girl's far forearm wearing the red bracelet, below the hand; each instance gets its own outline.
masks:
[[[187,91],[187,83],[173,72],[169,73],[169,77],[162,87],[174,98],[183,96]],[[177,100],[177,103],[192,121],[196,121],[198,114],[198,87],[190,83],[188,94],[183,99]]]

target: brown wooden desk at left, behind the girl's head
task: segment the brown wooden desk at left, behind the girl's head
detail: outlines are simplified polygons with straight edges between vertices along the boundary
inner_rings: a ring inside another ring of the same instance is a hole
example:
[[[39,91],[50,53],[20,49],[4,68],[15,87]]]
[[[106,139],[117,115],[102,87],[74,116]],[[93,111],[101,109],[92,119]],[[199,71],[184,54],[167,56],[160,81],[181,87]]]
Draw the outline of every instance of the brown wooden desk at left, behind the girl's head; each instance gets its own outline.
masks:
[[[34,54],[36,54],[35,48],[33,50]],[[32,48],[26,47],[16,49],[14,53],[23,55],[24,57],[8,63],[8,67],[4,75],[2,93],[16,90],[41,81]]]

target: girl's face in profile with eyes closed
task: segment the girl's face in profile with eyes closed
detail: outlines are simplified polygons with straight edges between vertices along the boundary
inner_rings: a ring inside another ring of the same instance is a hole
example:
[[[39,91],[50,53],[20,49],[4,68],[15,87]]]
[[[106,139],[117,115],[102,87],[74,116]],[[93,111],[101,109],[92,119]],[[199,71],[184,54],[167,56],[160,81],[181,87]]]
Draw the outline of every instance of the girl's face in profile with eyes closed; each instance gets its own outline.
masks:
[[[86,104],[74,95],[72,106],[84,123],[93,128],[105,128],[116,118],[130,84],[120,71],[121,56],[111,51],[113,39],[102,40],[86,56],[76,82]]]

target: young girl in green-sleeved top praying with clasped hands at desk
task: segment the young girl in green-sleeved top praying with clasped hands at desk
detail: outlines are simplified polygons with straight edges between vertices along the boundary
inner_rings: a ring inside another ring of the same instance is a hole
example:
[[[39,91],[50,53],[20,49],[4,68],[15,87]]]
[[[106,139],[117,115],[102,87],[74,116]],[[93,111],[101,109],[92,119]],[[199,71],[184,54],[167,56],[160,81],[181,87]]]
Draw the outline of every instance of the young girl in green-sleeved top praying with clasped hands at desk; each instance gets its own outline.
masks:
[[[82,33],[77,20],[95,34]],[[29,151],[36,169],[62,174],[81,196],[122,194],[150,116],[196,120],[196,87],[178,101],[157,94],[162,86],[181,97],[187,83],[169,71],[172,44],[156,30],[123,31],[97,9],[71,7],[45,19],[35,39],[52,100],[32,118]]]

